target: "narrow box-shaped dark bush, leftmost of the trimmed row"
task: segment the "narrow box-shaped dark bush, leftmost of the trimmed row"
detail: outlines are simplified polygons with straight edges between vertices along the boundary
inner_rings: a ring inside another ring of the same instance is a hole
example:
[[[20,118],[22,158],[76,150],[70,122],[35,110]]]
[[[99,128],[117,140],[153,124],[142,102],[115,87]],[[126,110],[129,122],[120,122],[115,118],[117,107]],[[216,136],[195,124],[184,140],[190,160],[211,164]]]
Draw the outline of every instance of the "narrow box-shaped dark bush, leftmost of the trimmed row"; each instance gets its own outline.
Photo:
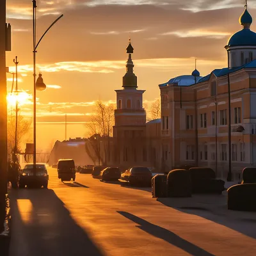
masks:
[[[167,197],[167,175],[155,175],[151,180],[152,198]]]

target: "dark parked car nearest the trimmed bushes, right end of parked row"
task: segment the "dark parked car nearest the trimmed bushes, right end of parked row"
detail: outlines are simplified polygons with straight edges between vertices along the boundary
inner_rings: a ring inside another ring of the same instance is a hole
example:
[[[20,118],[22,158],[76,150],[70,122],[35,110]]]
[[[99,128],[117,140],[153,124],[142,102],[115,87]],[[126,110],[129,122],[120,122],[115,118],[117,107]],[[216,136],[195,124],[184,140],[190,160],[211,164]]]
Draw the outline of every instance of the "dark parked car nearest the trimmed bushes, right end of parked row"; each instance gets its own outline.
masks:
[[[147,167],[132,167],[122,173],[121,179],[129,181],[131,185],[151,186],[152,173]]]

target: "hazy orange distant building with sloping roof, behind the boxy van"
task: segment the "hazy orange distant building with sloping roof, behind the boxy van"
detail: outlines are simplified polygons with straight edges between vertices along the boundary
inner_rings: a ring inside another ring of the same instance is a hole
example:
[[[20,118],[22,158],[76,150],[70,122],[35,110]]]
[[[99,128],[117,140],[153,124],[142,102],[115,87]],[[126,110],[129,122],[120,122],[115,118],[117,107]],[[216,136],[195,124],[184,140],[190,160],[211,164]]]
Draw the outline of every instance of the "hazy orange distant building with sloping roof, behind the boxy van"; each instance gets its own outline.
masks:
[[[76,165],[93,164],[86,152],[88,139],[76,138],[67,141],[56,141],[49,156],[49,165],[58,163],[59,159],[74,159]]]

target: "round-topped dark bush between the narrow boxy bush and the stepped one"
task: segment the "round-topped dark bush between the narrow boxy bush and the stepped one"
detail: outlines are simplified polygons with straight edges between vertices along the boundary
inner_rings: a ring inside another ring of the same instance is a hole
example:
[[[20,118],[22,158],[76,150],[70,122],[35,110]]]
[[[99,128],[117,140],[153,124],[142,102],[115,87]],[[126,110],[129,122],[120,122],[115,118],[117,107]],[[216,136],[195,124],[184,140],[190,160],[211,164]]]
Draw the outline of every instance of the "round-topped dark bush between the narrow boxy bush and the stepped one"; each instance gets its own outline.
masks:
[[[191,197],[191,175],[188,170],[175,169],[167,176],[168,196]]]

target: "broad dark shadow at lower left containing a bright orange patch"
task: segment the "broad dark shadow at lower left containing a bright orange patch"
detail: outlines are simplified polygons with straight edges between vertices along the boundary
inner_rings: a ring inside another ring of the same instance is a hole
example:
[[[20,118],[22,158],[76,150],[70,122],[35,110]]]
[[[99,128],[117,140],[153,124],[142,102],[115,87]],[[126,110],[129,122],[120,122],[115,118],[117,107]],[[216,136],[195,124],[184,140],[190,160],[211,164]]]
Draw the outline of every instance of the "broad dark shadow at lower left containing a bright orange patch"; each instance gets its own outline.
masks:
[[[51,189],[11,192],[10,256],[104,255]]]

